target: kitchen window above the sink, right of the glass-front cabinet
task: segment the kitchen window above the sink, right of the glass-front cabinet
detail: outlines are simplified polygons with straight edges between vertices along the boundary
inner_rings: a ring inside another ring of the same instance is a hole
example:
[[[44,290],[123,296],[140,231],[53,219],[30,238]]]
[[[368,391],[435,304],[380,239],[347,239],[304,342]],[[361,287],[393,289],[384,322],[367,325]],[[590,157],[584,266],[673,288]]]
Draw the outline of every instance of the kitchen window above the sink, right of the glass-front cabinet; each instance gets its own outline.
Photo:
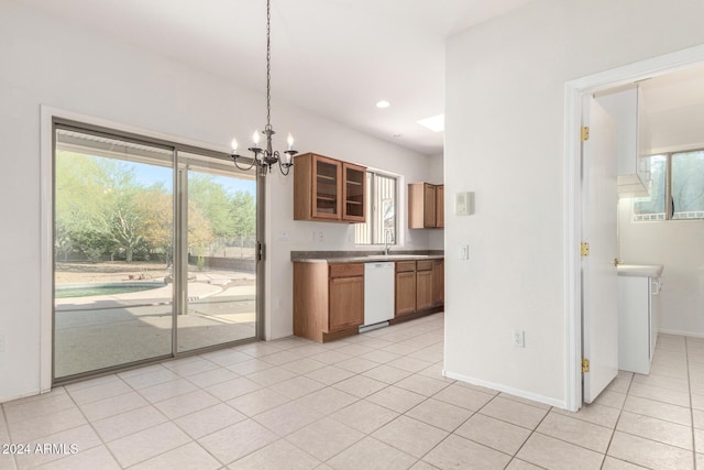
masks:
[[[375,171],[366,171],[366,222],[356,223],[356,244],[396,244],[397,178]]]

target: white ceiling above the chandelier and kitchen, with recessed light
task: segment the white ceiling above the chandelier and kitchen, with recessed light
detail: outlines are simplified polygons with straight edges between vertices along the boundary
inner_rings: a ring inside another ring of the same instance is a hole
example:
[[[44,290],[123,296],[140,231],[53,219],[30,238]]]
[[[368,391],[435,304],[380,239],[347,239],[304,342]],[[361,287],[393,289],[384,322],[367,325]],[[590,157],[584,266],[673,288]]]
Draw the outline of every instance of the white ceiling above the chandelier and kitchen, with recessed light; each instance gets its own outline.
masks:
[[[265,0],[20,1],[265,90]],[[272,0],[272,99],[440,154],[443,133],[416,121],[444,112],[444,40],[527,1]]]

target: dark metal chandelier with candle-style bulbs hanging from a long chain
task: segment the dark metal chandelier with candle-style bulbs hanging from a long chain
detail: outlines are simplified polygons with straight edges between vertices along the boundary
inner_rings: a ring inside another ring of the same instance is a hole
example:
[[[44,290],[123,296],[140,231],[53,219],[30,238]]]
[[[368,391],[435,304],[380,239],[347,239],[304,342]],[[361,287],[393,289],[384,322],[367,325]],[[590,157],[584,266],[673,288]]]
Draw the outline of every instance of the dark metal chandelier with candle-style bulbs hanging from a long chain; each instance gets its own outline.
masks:
[[[238,155],[238,141],[232,139],[232,152],[230,156],[234,162],[234,166],[242,171],[251,170],[255,164],[258,168],[262,168],[262,174],[266,174],[272,171],[272,166],[278,163],[278,170],[284,175],[288,175],[290,172],[290,167],[294,166],[293,157],[298,152],[294,150],[294,138],[289,133],[287,143],[288,150],[284,151],[284,155],[282,156],[277,150],[272,150],[272,135],[274,132],[274,128],[272,128],[272,46],[271,46],[271,0],[266,0],[266,127],[262,131],[262,133],[266,136],[266,147],[260,147],[260,131],[254,131],[252,135],[253,144],[248,150],[254,154],[251,159],[249,166],[244,164],[240,166],[238,161],[246,160],[245,157]]]

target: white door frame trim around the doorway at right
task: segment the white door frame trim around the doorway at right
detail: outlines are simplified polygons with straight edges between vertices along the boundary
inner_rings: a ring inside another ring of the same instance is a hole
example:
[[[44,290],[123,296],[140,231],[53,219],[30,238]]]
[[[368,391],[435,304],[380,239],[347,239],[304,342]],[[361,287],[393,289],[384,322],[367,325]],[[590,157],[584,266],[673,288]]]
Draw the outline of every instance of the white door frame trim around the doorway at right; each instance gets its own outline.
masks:
[[[564,280],[565,280],[565,406],[582,407],[582,275],[580,242],[582,194],[580,184],[582,96],[656,77],[704,62],[704,45],[568,81],[564,86]]]

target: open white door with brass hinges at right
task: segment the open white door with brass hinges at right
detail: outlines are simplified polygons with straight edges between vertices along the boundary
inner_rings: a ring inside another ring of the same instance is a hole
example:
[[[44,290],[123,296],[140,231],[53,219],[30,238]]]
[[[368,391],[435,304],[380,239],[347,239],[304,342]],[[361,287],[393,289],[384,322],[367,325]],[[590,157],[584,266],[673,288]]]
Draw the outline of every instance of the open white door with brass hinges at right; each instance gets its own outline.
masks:
[[[584,403],[592,403],[618,373],[618,280],[616,242],[616,123],[590,97],[585,108],[588,140],[582,147],[582,352]]]

